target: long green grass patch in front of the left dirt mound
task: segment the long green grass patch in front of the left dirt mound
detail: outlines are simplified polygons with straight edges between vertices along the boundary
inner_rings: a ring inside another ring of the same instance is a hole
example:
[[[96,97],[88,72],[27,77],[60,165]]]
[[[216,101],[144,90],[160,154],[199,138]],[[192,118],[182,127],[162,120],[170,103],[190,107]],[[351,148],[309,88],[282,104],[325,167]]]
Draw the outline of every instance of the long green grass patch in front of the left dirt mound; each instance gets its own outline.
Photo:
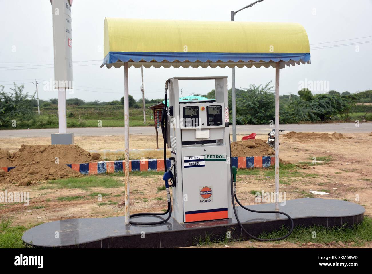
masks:
[[[122,187],[123,184],[108,176],[84,176],[79,178],[66,178],[48,181],[48,184],[55,185],[58,188],[82,188],[103,187],[113,188]]]

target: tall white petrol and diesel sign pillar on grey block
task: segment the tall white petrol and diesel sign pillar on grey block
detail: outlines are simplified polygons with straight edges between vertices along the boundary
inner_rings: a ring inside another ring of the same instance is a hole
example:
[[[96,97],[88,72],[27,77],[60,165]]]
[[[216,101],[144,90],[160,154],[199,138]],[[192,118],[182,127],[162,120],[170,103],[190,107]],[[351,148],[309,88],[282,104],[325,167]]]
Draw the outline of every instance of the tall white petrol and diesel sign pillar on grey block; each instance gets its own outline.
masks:
[[[58,90],[58,133],[52,144],[74,144],[67,133],[66,89],[73,89],[71,6],[73,0],[51,0],[54,47],[54,90]]]

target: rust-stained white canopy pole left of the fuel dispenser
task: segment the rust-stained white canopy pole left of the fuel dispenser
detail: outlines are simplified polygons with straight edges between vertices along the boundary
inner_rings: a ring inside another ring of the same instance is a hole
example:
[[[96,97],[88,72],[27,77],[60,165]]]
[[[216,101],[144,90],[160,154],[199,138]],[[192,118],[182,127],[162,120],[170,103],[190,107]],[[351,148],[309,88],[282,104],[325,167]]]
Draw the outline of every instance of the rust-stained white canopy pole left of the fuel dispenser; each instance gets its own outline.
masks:
[[[128,62],[124,63],[124,150],[125,150],[125,223],[129,224],[129,87]]]

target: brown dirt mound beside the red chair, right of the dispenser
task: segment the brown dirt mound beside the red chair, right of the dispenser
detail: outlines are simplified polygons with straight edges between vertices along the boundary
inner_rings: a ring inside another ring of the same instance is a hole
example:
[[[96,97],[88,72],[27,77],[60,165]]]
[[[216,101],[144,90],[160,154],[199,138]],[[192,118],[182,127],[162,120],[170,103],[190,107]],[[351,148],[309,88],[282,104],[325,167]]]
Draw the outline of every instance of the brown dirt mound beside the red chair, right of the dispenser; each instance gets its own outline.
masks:
[[[241,140],[231,143],[232,157],[238,156],[269,156],[274,150],[263,140]]]

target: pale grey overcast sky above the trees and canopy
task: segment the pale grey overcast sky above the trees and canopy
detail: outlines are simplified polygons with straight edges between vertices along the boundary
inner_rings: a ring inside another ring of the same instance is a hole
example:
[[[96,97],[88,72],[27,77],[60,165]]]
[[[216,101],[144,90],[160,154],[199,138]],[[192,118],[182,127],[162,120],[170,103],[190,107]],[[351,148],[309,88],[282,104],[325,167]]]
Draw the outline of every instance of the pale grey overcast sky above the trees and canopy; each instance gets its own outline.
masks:
[[[0,85],[9,90],[7,87],[14,81],[25,83],[25,89],[33,93],[35,86],[31,82],[35,78],[42,84],[54,76],[51,4],[49,0],[0,1]],[[72,38],[76,89],[74,94],[67,93],[67,98],[112,101],[124,95],[124,69],[100,68],[105,17],[228,21],[231,10],[251,2],[75,0]],[[312,48],[311,64],[280,70],[281,95],[295,94],[305,79],[329,81],[331,90],[356,92],[372,89],[372,43],[361,43],[372,41],[371,15],[371,0],[264,0],[237,13],[235,21],[297,22],[306,29]],[[339,42],[318,44],[331,41]],[[315,49],[330,45],[339,46]],[[95,61],[77,62],[85,60]],[[47,63],[39,63],[42,61]],[[82,64],[91,66],[78,66]],[[275,69],[236,68],[235,75],[236,87],[248,87],[274,80]],[[161,98],[165,80],[174,76],[228,76],[231,82],[231,68],[145,68],[145,97]],[[183,96],[205,94],[214,88],[212,81],[185,82],[180,85]],[[129,68],[129,94],[135,99],[141,97],[140,83],[141,70]],[[40,99],[57,98],[57,92],[42,87],[39,85]]]

